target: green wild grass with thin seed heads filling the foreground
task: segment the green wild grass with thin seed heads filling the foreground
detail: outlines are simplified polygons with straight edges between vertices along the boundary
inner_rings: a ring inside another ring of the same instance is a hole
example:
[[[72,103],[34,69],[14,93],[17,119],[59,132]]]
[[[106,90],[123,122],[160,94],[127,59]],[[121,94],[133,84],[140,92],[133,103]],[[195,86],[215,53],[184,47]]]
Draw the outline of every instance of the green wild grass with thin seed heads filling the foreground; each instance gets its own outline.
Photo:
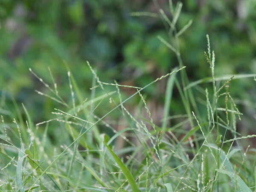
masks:
[[[250,145],[243,148],[240,143],[256,135],[242,136],[237,132],[237,121],[241,120],[242,113],[229,91],[233,79],[252,77],[253,74],[215,76],[215,54],[207,35],[207,52],[204,54],[212,77],[190,82],[178,37],[192,21],[180,31],[176,29],[181,8],[182,3],[177,3],[175,8],[170,1],[172,20],[160,9],[159,17],[169,27],[170,42],[158,37],[175,52],[179,66],[145,87],[102,82],[87,62],[88,70],[93,74],[91,96],[83,98],[75,76],[67,66],[68,102],[58,94],[50,69],[52,86],[29,69],[48,90],[48,93],[36,92],[56,102],[58,107],[52,109],[52,119],[36,124],[30,118],[32,112],[24,105],[24,113],[17,107],[17,120],[10,121],[10,116],[1,116],[1,191],[256,190],[256,149]],[[133,15],[152,16],[147,12]],[[143,90],[163,79],[168,79],[163,119],[162,125],[156,125]],[[199,87],[204,82],[211,83],[212,88]],[[116,90],[109,92],[107,86]],[[119,87],[135,92],[123,100]],[[186,114],[169,116],[174,87]],[[195,96],[195,90],[200,90],[202,96]],[[140,103],[137,111],[131,112],[126,104],[134,97],[139,98]],[[98,117],[97,111],[107,108],[106,105],[113,108]],[[125,126],[122,130],[113,128],[112,124],[118,122],[110,122],[114,111]],[[61,145],[52,143],[47,134],[53,127],[58,131]],[[43,134],[41,129],[44,129]],[[124,147],[119,148],[118,138],[124,140]]]

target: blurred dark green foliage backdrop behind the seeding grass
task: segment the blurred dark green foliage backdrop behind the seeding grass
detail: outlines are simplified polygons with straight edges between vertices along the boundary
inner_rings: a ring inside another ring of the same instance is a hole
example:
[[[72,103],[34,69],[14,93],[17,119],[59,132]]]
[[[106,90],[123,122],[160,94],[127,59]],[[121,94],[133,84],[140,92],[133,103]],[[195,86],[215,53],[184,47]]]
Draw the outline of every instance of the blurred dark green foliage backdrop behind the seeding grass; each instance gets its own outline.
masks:
[[[160,17],[131,15],[131,12],[158,13],[161,8],[169,16],[168,3],[168,0],[1,0],[0,113],[15,116],[10,114],[18,111],[13,104],[15,99],[20,110],[24,103],[35,122],[52,118],[51,112],[58,104],[34,92],[36,89],[49,94],[29,72],[29,67],[51,84],[49,66],[60,95],[70,104],[67,68],[84,98],[89,97],[93,76],[87,60],[104,82],[112,83],[116,79],[119,84],[143,87],[169,73],[178,66],[177,59],[157,39],[157,35],[168,39],[166,23]],[[206,34],[216,55],[216,75],[256,73],[255,0],[184,0],[182,3],[178,29],[193,20],[179,40],[190,81],[211,75],[204,58]],[[160,113],[165,86],[166,80],[145,91],[160,106]],[[122,91],[124,97],[133,93],[130,89]],[[230,92],[240,102],[240,109],[246,111],[247,105],[255,107],[252,78],[234,80]],[[195,91],[195,94],[201,93]],[[130,108],[136,105],[133,103]],[[175,88],[170,115],[180,113],[184,109]],[[255,116],[251,109],[247,114],[243,118]],[[244,126],[250,130],[250,121],[245,121]]]

